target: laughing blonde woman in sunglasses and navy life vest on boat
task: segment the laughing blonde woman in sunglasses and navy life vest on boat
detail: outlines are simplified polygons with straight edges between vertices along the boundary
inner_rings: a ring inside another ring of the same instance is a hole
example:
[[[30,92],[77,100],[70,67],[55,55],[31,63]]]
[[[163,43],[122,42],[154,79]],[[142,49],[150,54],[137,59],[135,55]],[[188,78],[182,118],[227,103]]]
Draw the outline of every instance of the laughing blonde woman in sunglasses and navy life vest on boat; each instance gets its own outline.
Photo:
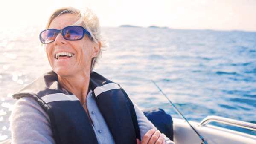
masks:
[[[93,12],[57,9],[40,33],[52,67],[13,95],[13,143],[172,144],[93,67],[106,46]]]

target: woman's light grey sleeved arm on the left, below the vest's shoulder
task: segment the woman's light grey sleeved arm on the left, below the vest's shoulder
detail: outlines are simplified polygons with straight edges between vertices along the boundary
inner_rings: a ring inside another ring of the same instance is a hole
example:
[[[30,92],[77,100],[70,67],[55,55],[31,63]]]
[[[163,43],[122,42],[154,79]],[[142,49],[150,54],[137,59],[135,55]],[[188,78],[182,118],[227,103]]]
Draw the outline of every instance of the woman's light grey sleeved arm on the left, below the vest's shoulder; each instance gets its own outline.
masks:
[[[49,116],[30,97],[20,98],[11,114],[12,144],[55,144]]]

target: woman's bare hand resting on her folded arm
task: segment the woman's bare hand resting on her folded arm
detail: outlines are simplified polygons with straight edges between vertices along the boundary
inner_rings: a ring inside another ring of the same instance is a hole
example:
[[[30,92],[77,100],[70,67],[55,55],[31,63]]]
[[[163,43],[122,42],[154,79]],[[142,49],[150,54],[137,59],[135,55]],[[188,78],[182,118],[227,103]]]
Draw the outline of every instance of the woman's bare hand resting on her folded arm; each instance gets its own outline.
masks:
[[[159,130],[151,129],[144,135],[141,143],[137,139],[137,144],[165,144],[165,141]]]

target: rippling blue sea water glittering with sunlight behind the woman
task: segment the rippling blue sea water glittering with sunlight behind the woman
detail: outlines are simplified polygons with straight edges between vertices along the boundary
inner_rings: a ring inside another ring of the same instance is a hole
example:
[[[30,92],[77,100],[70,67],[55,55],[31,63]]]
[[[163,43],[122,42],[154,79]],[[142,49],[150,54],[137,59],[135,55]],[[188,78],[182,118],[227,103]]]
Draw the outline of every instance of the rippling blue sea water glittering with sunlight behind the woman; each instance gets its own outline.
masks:
[[[0,30],[0,141],[11,138],[12,94],[50,69],[42,29]],[[179,118],[154,80],[191,121],[218,115],[256,123],[256,32],[116,27],[102,35],[110,46],[95,71],[121,84],[140,108]]]

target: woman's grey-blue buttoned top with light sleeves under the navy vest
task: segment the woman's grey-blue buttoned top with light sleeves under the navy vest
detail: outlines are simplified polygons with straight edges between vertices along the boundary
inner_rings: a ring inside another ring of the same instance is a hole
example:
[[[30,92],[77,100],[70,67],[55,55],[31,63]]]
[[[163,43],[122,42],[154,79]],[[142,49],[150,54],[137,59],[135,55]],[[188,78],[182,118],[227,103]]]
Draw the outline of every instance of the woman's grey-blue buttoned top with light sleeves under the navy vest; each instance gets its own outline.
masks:
[[[87,95],[87,109],[93,122],[93,130],[99,144],[114,144],[108,126],[100,113],[95,98]],[[135,112],[140,127],[141,139],[145,133],[155,128],[143,115],[143,112],[134,104]],[[51,130],[49,116],[44,109],[30,97],[20,98],[11,115],[12,144],[55,144]],[[164,134],[166,144],[174,144]]]

